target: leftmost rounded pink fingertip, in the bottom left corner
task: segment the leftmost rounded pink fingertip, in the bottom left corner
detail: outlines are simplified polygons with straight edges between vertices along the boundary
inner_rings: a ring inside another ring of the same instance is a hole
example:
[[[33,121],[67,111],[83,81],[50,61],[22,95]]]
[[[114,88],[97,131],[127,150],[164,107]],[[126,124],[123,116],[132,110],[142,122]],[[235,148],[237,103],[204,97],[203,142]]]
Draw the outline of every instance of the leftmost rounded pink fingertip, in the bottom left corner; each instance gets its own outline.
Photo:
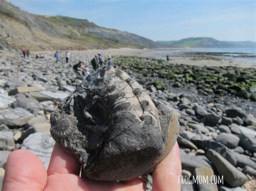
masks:
[[[29,151],[12,152],[5,169],[3,190],[43,190],[46,185],[43,162]]]

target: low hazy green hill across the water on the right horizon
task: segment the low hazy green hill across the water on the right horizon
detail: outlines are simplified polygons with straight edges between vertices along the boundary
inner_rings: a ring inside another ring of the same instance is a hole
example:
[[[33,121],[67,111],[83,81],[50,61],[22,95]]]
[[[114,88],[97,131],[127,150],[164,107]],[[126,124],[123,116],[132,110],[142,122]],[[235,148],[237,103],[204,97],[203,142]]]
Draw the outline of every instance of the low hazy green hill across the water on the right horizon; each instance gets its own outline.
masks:
[[[252,41],[219,41],[214,38],[197,37],[197,38],[185,38],[177,41],[157,41],[159,44],[163,44],[168,47],[190,47],[190,48],[234,48],[234,47],[256,47],[256,42]]]

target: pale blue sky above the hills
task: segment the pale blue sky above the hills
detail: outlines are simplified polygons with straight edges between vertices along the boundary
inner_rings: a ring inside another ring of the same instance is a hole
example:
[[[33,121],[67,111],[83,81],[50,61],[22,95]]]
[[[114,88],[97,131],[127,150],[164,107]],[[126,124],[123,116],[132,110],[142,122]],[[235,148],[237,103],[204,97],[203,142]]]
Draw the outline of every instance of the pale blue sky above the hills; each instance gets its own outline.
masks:
[[[38,15],[86,18],[152,40],[256,41],[254,0],[8,0]]]

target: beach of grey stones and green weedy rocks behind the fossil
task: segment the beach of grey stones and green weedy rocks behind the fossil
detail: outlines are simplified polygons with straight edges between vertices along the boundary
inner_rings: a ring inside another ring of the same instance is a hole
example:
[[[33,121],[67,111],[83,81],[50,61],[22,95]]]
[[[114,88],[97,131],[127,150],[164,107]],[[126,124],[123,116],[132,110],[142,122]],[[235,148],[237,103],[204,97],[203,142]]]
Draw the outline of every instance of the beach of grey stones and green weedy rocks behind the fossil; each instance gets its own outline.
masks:
[[[49,136],[50,113],[84,79],[72,66],[79,60],[90,66],[93,54],[73,53],[71,63],[55,63],[51,53],[29,60],[0,55],[1,176],[8,154],[19,148],[37,154],[48,166],[55,143]],[[175,65],[136,56],[113,60],[151,98],[176,110],[183,175],[224,175],[225,185],[211,185],[211,190],[255,190],[255,68]],[[147,189],[151,186],[149,175]],[[183,190],[203,188],[209,187],[182,185]]]

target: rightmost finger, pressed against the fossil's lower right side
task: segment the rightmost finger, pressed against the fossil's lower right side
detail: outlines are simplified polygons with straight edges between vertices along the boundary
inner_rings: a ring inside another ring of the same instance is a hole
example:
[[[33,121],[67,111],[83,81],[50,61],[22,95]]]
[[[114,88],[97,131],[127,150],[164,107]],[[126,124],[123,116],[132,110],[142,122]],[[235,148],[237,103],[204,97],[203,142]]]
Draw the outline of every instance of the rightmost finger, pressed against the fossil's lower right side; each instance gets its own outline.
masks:
[[[154,168],[152,190],[180,190],[178,178],[181,175],[181,162],[178,143],[167,157]]]

